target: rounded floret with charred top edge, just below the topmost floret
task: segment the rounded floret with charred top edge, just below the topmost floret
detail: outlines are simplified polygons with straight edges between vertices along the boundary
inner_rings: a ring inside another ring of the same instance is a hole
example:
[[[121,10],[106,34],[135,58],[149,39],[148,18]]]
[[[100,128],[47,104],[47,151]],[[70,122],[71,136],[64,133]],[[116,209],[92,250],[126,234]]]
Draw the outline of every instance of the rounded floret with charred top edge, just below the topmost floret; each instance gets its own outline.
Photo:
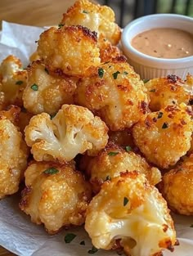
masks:
[[[38,40],[38,55],[49,70],[76,76],[101,62],[96,33],[81,25],[44,31]]]

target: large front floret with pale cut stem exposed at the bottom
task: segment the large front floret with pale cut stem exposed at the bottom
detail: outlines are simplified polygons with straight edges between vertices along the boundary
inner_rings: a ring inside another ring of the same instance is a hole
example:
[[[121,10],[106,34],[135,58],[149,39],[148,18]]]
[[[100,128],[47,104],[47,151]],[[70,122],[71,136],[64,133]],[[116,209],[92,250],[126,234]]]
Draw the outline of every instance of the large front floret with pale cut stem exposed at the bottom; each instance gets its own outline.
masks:
[[[161,255],[176,242],[164,198],[137,172],[103,184],[88,206],[85,229],[96,248],[122,247],[131,256]]]

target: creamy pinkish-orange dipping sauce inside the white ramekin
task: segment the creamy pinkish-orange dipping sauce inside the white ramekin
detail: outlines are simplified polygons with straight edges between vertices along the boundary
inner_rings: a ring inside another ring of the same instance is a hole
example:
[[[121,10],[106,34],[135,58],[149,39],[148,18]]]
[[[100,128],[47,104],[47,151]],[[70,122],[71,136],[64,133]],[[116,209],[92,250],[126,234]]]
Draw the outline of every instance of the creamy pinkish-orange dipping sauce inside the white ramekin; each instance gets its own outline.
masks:
[[[157,58],[193,56],[193,34],[181,29],[150,29],[132,38],[132,47]]]

